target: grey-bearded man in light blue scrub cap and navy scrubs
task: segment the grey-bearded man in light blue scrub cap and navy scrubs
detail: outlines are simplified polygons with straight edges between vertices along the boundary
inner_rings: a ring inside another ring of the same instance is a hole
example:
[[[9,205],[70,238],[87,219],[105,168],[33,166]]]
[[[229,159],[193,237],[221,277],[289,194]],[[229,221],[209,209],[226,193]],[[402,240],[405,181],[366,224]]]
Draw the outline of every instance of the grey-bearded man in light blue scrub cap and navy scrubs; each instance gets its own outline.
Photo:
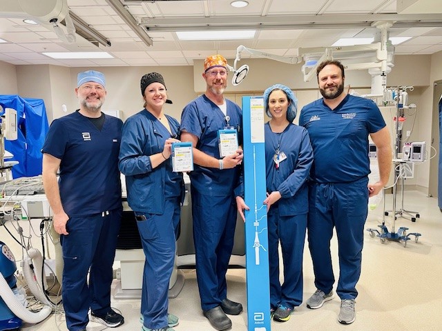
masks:
[[[41,152],[43,184],[63,250],[63,298],[69,331],[90,320],[115,328],[124,323],[111,308],[111,283],[122,217],[118,153],[122,120],[101,108],[102,72],[77,76],[79,109],[52,121]],[[59,179],[57,171],[59,170]]]

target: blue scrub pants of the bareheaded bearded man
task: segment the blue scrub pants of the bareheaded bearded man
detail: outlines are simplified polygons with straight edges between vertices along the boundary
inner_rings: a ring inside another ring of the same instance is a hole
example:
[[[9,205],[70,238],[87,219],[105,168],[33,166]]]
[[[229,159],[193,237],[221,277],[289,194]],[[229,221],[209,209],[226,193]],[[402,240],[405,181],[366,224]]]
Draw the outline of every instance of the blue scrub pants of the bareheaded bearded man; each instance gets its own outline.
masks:
[[[361,275],[363,232],[368,213],[368,179],[309,185],[308,240],[315,285],[329,293],[334,284],[330,239],[338,236],[340,299],[355,299]]]

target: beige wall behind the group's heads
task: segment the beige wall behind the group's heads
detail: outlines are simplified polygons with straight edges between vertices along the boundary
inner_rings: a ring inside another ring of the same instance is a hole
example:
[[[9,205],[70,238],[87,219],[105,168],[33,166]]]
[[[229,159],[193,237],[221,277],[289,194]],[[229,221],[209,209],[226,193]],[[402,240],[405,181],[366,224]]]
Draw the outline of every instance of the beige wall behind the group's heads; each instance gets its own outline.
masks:
[[[232,59],[228,61],[233,65]],[[411,141],[430,141],[431,132],[428,128],[431,127],[432,121],[432,82],[442,79],[442,52],[432,56],[396,56],[394,63],[392,72],[387,75],[387,86],[415,86],[415,90],[410,92],[409,101],[416,103],[418,111],[410,139],[412,139]],[[299,109],[319,97],[316,77],[305,83],[300,70],[301,65],[280,63],[269,59],[242,59],[238,62],[238,66],[242,66],[242,64],[249,65],[249,74],[239,86],[232,86],[229,81],[226,91],[228,94],[232,94],[233,99],[237,101],[242,94],[260,94],[274,83],[283,83],[295,90]],[[90,69],[102,71],[106,76],[108,94],[103,110],[121,110],[124,119],[142,109],[144,101],[140,90],[140,79],[143,74],[148,72],[155,71],[163,75],[169,99],[173,100],[173,105],[166,105],[166,112],[178,120],[180,120],[182,108],[186,103],[204,92],[206,88],[201,76],[202,60],[195,60],[193,67],[97,68],[12,66],[0,62],[2,77],[0,93],[44,99],[48,120],[52,121],[52,119],[65,114],[61,112],[62,104],[66,104],[68,113],[78,108],[78,101],[74,93],[77,74]],[[367,88],[371,85],[371,77],[367,70],[347,70],[345,77],[346,84],[361,93],[367,92]],[[411,121],[407,121],[405,128],[410,125]],[[427,188],[429,168],[429,162],[419,165],[416,178],[407,183]]]

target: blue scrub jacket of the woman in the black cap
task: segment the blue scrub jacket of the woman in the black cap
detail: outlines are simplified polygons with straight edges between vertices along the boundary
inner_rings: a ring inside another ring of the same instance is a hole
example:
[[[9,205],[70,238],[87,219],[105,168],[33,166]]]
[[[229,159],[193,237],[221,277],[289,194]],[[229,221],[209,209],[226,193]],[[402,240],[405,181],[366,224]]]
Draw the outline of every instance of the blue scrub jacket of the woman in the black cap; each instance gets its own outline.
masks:
[[[166,118],[176,137],[180,124],[169,115]],[[152,168],[150,156],[162,152],[169,137],[171,133],[146,109],[124,123],[119,170],[126,176],[127,201],[132,210],[163,214],[165,199],[184,197],[182,173],[172,171],[171,158]]]

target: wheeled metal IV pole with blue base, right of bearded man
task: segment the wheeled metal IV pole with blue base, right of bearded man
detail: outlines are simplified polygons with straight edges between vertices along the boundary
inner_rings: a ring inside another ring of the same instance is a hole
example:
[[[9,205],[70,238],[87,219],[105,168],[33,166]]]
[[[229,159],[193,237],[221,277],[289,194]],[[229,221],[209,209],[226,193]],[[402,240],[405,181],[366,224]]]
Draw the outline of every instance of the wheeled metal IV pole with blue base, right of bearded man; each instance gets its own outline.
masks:
[[[398,228],[398,232],[394,232],[395,229],[395,225],[396,225],[396,214],[400,214],[401,217],[403,217],[403,214],[410,214],[410,213],[414,213],[416,214],[416,217],[419,218],[420,215],[418,212],[412,212],[410,210],[404,210],[403,209],[403,181],[404,181],[404,177],[403,177],[403,161],[398,159],[398,152],[399,152],[399,148],[400,148],[400,144],[401,144],[401,134],[402,134],[402,128],[399,128],[399,114],[400,112],[403,112],[403,105],[401,103],[399,103],[399,96],[401,95],[401,92],[403,91],[403,88],[398,87],[397,88],[397,103],[396,103],[396,141],[394,144],[394,157],[393,157],[393,164],[394,164],[394,184],[393,184],[393,208],[392,211],[394,210],[394,212],[392,212],[392,230],[391,232],[388,230],[387,226],[385,225],[385,216],[388,216],[389,212],[385,211],[385,188],[384,188],[384,201],[383,201],[383,217],[382,217],[382,224],[378,225],[378,228],[381,228],[381,231],[377,230],[377,229],[372,229],[372,228],[368,228],[367,231],[370,232],[370,237],[374,237],[376,234],[376,237],[379,237],[379,239],[381,239],[381,243],[385,243],[387,240],[392,240],[392,241],[402,241],[403,242],[403,247],[405,247],[407,245],[407,241],[409,241],[411,238],[410,236],[414,236],[414,241],[416,241],[416,243],[419,241],[419,237],[421,237],[420,233],[417,232],[412,232],[407,234],[407,230],[408,228],[405,227],[401,227]],[[398,166],[398,169],[396,170],[396,166]],[[402,178],[402,188],[401,188],[401,203],[402,203],[402,208],[401,210],[396,210],[396,193],[397,193],[397,181],[399,179],[399,176],[401,176]],[[412,216],[410,214],[410,216]],[[413,221],[412,217],[412,221]],[[414,219],[414,221],[416,221],[416,219]]]

